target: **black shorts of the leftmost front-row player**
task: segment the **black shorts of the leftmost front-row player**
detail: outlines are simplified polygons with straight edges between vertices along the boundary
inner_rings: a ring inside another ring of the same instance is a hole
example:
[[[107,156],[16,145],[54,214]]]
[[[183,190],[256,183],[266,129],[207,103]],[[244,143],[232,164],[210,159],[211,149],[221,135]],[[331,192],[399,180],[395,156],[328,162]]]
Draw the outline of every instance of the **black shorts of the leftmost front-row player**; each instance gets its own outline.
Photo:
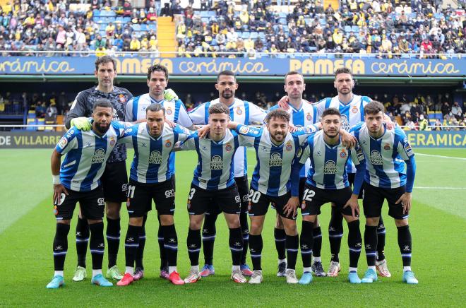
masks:
[[[70,220],[76,202],[79,202],[83,217],[90,220],[101,220],[104,217],[104,191],[102,185],[91,191],[68,190],[68,196],[61,194],[58,201],[54,201],[54,214],[56,220]]]

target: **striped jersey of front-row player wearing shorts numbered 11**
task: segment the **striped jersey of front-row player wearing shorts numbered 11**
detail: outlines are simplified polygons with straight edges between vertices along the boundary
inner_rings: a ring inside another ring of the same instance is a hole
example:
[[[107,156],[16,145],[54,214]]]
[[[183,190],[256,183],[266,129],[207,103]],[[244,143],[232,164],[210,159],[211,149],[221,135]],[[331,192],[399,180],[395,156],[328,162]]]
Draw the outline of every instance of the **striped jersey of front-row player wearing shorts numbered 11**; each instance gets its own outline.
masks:
[[[191,131],[177,125],[164,125],[158,138],[150,136],[148,124],[140,123],[124,130],[119,143],[131,143],[134,158],[129,177],[139,183],[160,183],[170,179],[174,166],[169,163],[172,149],[178,141],[185,141]]]

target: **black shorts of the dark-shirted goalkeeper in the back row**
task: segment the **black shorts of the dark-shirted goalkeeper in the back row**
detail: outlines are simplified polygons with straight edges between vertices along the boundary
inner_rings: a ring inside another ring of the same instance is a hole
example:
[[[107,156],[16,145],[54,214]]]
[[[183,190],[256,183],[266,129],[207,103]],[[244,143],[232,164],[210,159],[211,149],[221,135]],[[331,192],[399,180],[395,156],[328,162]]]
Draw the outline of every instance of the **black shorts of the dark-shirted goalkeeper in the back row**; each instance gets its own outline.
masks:
[[[105,201],[117,203],[126,201],[128,191],[126,162],[110,162],[105,165],[100,181],[104,189]]]

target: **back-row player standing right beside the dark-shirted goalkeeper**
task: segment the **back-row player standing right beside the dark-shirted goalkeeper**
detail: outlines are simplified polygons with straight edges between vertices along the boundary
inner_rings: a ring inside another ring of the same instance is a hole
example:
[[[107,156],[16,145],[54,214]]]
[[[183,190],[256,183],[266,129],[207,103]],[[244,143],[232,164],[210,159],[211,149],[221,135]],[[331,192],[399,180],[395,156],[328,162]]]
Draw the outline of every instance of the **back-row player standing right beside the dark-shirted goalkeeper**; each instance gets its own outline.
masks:
[[[149,105],[155,103],[160,104],[165,108],[165,118],[171,122],[180,124],[181,126],[187,127],[189,129],[197,129],[197,126],[193,125],[193,122],[189,118],[188,112],[184,107],[183,102],[178,100],[177,96],[174,95],[172,90],[165,90],[168,84],[168,70],[165,66],[162,65],[153,65],[148,69],[148,87],[149,93],[133,97],[129,100],[126,105],[126,117],[129,122],[141,122],[145,120],[146,110]],[[172,153],[169,157],[169,170],[171,172],[170,177],[174,181],[174,159],[175,155]],[[159,220],[159,229],[158,229],[158,242],[160,248],[160,277],[168,279],[168,260],[166,252],[164,249],[164,235],[162,232],[162,224]],[[144,276],[144,266],[143,266],[143,254],[145,247],[145,221],[147,220],[147,215],[143,215],[143,225],[141,227],[141,234],[139,235],[139,248],[136,255],[136,268],[134,273],[134,280],[139,280]]]

